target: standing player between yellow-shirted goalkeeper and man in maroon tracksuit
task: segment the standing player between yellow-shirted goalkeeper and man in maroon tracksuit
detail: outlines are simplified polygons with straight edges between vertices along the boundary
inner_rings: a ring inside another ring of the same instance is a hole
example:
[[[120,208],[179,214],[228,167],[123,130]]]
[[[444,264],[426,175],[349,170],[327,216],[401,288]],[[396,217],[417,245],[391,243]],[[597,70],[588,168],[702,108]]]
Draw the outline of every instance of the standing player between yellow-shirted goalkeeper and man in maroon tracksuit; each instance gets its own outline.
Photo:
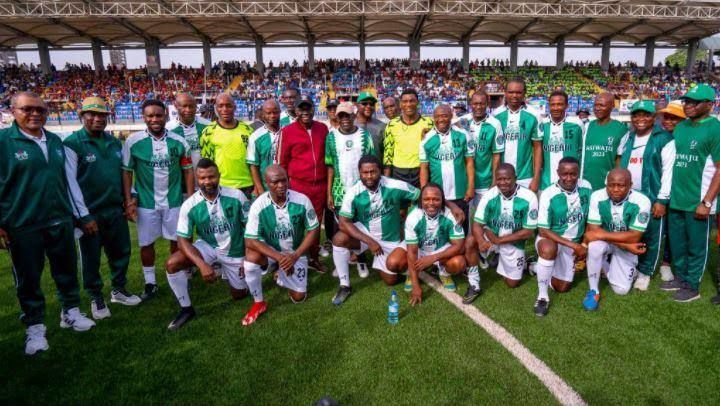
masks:
[[[253,195],[256,197],[265,193],[267,189],[262,175],[265,169],[277,163],[280,143],[280,104],[276,100],[265,100],[262,114],[265,124],[250,136],[245,155],[245,162],[250,165],[253,178]]]

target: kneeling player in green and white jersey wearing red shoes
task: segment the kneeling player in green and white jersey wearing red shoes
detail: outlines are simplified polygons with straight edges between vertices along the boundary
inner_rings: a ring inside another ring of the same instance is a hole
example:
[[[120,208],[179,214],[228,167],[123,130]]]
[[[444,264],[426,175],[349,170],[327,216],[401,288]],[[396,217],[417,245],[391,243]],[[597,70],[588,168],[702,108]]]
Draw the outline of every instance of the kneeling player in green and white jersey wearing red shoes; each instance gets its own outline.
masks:
[[[262,270],[270,265],[278,266],[276,282],[288,289],[290,300],[293,303],[305,300],[306,254],[320,236],[320,223],[310,199],[288,189],[287,172],[281,166],[269,166],[265,182],[268,191],[250,206],[245,228],[245,279],[255,303],[242,320],[244,326],[254,323],[267,310]]]

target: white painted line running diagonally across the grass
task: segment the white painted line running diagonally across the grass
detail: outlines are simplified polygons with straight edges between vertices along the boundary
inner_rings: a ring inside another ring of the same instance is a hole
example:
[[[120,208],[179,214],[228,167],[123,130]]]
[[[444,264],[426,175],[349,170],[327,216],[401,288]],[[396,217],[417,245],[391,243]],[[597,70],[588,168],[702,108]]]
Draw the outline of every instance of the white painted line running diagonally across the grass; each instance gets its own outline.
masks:
[[[587,403],[558,374],[553,372],[540,358],[528,350],[515,336],[503,326],[494,322],[473,305],[464,305],[462,298],[445,290],[440,282],[425,272],[420,272],[420,279],[465,313],[478,326],[482,327],[500,345],[505,347],[517,358],[525,368],[540,379],[555,399],[562,405],[587,405]]]

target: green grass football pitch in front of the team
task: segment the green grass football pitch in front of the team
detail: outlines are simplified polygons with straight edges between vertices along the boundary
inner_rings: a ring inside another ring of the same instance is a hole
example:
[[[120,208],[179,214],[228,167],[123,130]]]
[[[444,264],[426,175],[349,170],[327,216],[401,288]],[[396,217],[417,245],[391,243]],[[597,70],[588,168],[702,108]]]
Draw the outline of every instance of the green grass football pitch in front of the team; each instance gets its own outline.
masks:
[[[266,277],[269,311],[251,327],[240,324],[250,298],[234,302],[225,283],[206,285],[198,275],[191,281],[198,317],[170,332],[178,306],[161,271],[167,245],[158,248],[159,296],[135,308],[110,304],[112,317],[85,333],[59,327],[46,270],[50,350],[36,357],[23,353],[11,264],[0,254],[0,402],[308,405],[328,396],[340,404],[557,403],[510,352],[426,285],[414,308],[397,286],[400,323],[390,326],[391,288],[375,272],[358,278],[355,267],[354,293],[338,308],[330,303],[337,280],[329,273],[311,272],[308,300],[299,305]],[[709,303],[716,250],[702,298],[691,303],[672,302],[658,290],[659,277],[647,292],[626,297],[603,280],[599,311],[588,313],[581,273],[569,293],[551,292],[550,314],[538,318],[534,278],[511,290],[488,270],[474,305],[589,404],[717,404],[720,308]],[[143,284],[138,254],[134,246],[131,292]],[[107,270],[103,275],[109,296]],[[464,292],[466,280],[455,279]]]

